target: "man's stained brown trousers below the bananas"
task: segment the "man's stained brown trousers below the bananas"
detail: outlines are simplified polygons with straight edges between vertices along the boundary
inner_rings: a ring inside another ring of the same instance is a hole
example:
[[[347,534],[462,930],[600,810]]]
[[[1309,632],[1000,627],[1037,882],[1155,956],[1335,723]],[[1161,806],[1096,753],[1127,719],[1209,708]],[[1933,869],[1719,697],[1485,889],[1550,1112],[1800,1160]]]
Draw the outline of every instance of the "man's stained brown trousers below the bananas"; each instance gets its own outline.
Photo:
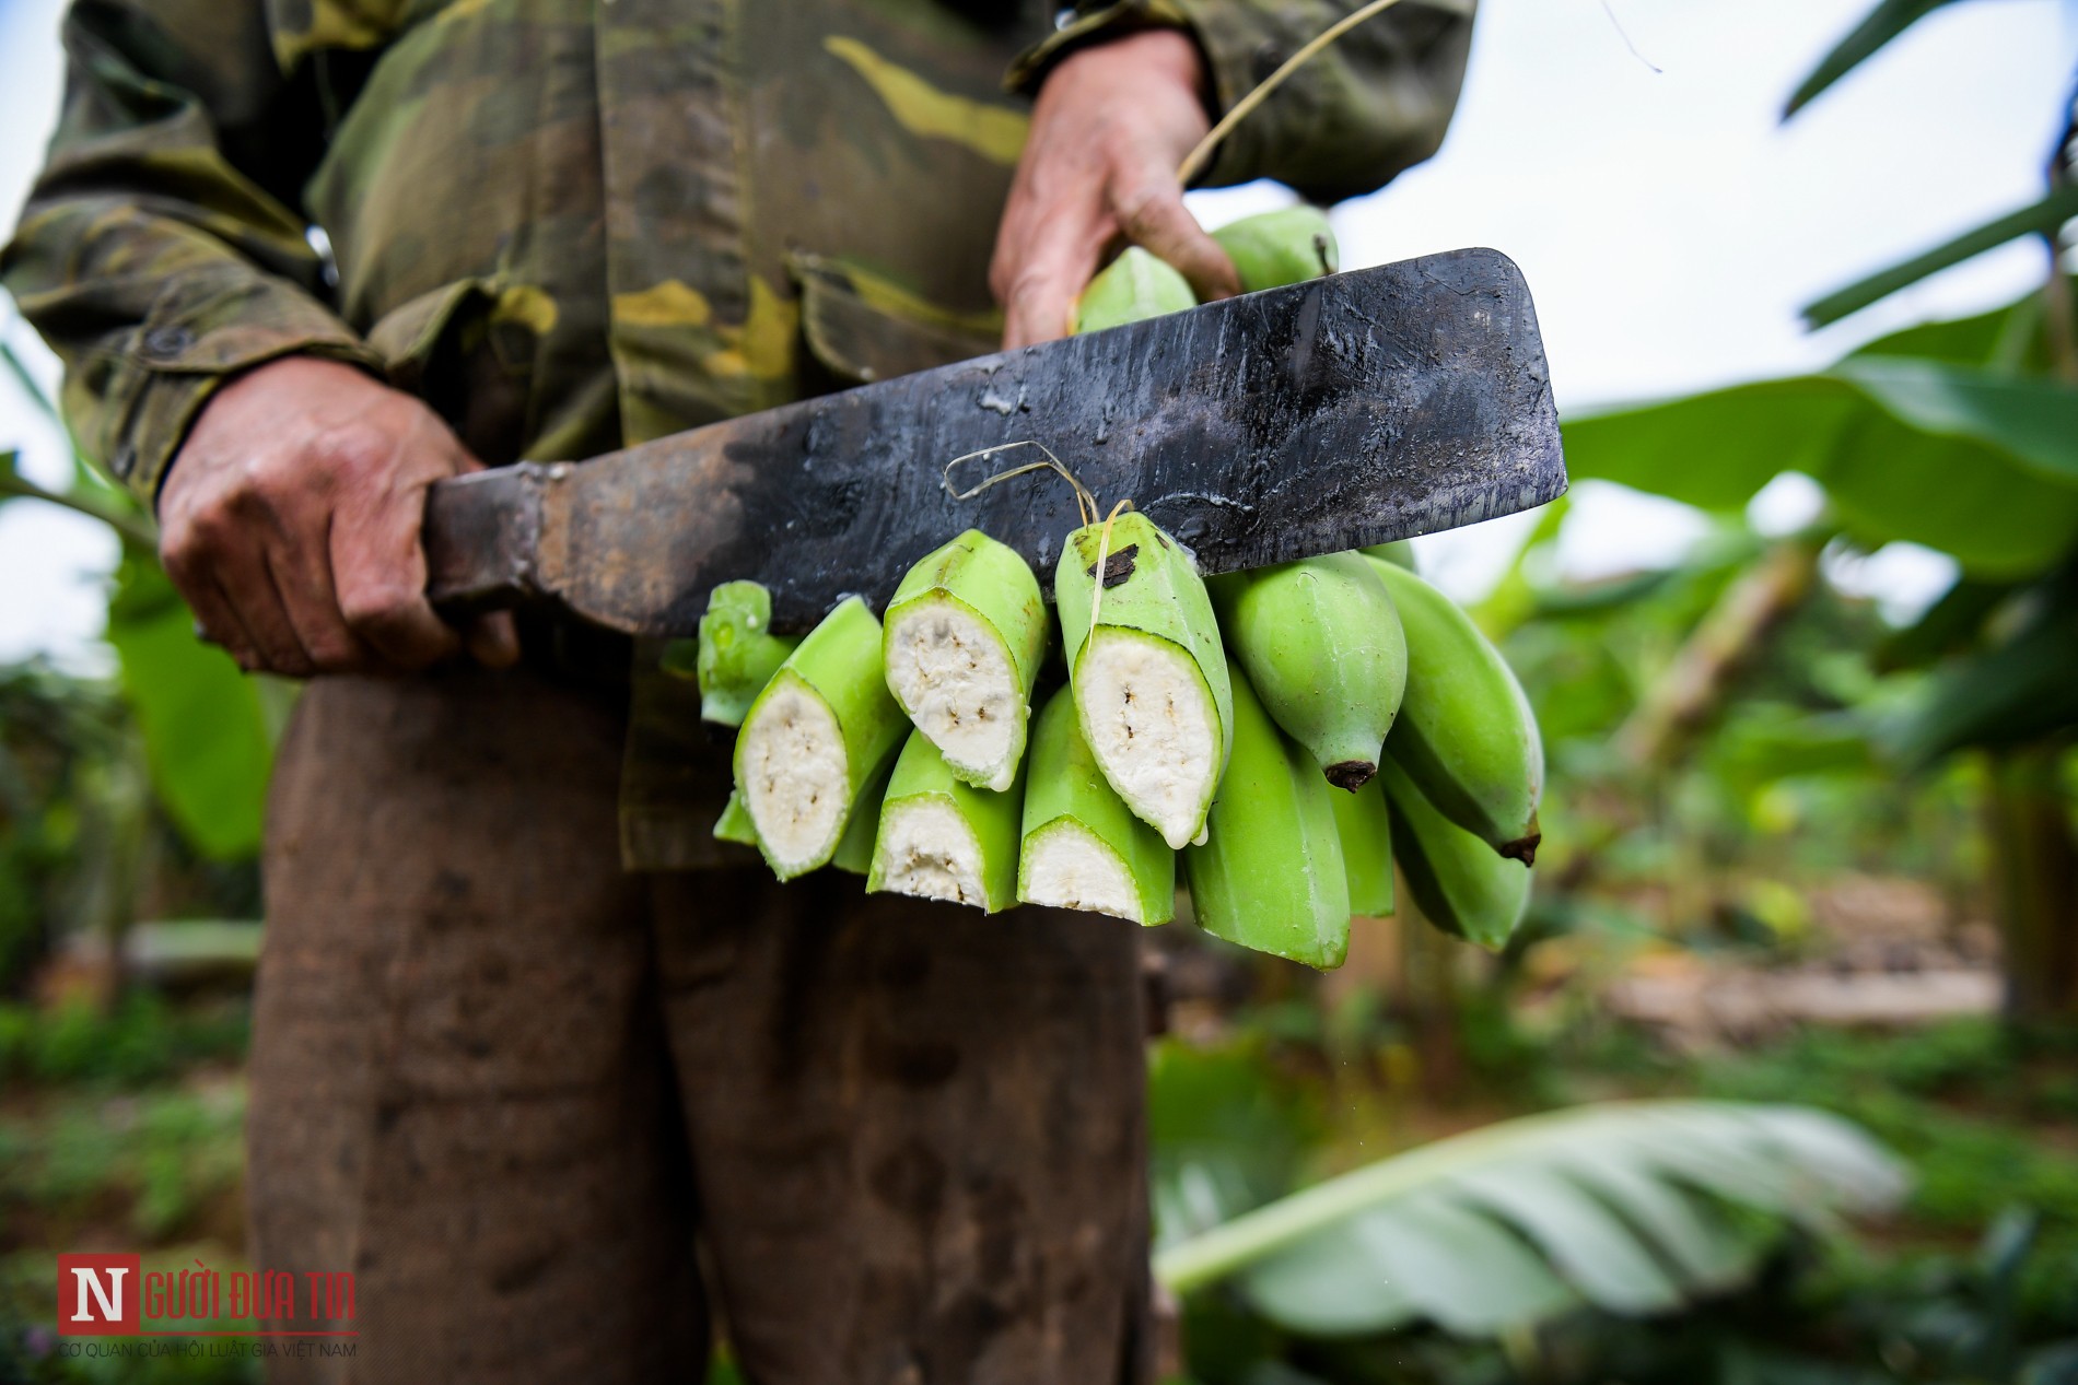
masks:
[[[528,673],[303,696],[254,1252],[353,1271],[359,1335],[272,1379],[696,1383],[713,1300],[756,1385],[1143,1381],[1137,930],[623,874],[621,729]]]

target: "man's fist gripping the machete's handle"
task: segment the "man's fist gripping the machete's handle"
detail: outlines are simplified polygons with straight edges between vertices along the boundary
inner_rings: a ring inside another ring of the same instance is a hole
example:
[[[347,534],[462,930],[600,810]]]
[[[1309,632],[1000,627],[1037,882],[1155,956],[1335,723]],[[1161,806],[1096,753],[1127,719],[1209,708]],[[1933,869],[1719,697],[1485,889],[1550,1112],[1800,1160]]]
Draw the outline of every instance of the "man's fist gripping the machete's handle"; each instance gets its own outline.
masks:
[[[463,646],[426,602],[426,488],[480,467],[418,399],[285,357],[195,419],[160,490],[160,556],[247,671],[424,669]],[[520,656],[503,615],[472,627],[468,648],[490,667]]]

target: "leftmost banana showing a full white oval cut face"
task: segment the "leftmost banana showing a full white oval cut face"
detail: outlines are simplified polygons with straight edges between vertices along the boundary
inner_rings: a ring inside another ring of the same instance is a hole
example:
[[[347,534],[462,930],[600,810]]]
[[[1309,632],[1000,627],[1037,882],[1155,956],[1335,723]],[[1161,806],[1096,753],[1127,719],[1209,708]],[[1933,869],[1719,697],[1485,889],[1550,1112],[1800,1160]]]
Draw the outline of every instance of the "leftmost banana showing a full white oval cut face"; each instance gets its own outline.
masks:
[[[881,623],[852,596],[800,642],[736,733],[736,791],[781,880],[829,862],[860,791],[902,745]]]

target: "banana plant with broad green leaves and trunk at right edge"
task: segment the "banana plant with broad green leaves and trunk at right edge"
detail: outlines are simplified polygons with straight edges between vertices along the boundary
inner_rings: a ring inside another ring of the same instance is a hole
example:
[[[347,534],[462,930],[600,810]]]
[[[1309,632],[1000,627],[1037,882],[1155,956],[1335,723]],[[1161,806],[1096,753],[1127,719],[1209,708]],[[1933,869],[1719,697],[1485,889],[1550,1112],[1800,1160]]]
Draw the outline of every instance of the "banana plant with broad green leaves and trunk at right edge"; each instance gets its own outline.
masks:
[[[1881,0],[1812,71],[1783,118],[1955,0]],[[1837,322],[2020,237],[2049,247],[2039,293],[1870,343],[1831,370],[1571,419],[1575,480],[1737,511],[1783,471],[1816,480],[1841,542],[1910,540],[1964,579],[1893,642],[1924,673],[1870,739],[1901,768],[1989,760],[1995,912],[2016,1020],[2078,1015],[2078,831],[2066,760],[2078,735],[2078,303],[2063,272],[2078,218],[2078,91],[2039,201],[1968,228],[1804,309]]]

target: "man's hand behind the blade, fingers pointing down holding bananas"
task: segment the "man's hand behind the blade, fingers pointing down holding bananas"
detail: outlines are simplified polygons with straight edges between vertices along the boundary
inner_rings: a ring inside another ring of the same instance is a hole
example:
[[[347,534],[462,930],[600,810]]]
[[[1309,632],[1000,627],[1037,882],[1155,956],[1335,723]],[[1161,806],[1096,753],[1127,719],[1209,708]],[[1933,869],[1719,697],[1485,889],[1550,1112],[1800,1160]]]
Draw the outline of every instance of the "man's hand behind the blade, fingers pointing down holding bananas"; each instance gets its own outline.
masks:
[[[1074,295],[1120,239],[1182,270],[1199,299],[1241,293],[1176,185],[1211,129],[1203,93],[1205,60],[1174,29],[1085,48],[1047,75],[989,264],[1006,349],[1066,336]]]

